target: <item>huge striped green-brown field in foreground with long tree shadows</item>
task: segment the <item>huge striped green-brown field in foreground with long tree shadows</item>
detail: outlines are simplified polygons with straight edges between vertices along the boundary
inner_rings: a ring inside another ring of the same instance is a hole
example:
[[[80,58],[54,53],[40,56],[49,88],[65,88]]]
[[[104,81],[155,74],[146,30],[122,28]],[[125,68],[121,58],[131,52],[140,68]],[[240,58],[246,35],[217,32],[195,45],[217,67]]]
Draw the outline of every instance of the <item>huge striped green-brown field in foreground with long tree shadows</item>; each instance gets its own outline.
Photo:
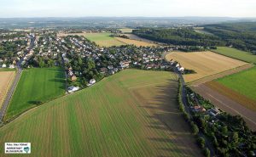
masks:
[[[38,157],[202,156],[178,109],[177,77],[163,71],[124,70],[32,109],[0,128],[6,141],[31,142]]]

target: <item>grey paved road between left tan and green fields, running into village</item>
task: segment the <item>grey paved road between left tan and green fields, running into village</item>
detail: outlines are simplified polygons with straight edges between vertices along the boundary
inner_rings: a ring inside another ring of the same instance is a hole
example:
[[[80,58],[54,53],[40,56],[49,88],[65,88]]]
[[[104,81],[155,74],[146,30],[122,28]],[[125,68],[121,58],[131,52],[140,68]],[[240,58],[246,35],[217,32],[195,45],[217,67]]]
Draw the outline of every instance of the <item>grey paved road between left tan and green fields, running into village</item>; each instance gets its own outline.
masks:
[[[35,37],[31,36],[31,39],[32,40],[31,40],[31,43],[30,43],[30,47],[27,49],[26,53],[30,52],[32,50],[32,48],[34,47]],[[15,80],[14,80],[13,84],[11,85],[8,93],[6,94],[6,97],[3,101],[2,108],[0,109],[0,122],[3,121],[3,116],[5,114],[5,111],[8,108],[9,102],[10,102],[13,94],[15,93],[15,88],[17,87],[17,84],[20,80],[20,76],[22,74],[21,63],[22,63],[23,60],[24,59],[21,58],[20,61],[17,63],[17,73],[16,73],[16,76],[15,76]]]

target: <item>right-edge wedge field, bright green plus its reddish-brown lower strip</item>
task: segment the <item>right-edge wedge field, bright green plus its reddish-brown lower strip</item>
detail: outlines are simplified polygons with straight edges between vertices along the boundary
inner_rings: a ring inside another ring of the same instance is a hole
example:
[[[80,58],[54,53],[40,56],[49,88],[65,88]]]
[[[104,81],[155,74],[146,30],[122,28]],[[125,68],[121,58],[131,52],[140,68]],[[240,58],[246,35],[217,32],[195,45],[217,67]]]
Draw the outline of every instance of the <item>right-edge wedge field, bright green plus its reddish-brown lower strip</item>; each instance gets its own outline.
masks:
[[[209,85],[248,109],[256,111],[255,76],[256,67],[231,76],[225,76]]]

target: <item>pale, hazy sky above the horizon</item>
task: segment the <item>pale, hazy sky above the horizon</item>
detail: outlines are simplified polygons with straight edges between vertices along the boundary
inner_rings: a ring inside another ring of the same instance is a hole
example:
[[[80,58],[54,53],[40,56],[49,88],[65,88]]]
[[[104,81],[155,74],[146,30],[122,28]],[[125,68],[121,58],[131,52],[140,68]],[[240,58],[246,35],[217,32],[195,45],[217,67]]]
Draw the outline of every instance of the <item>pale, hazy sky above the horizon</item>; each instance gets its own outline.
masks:
[[[13,17],[256,17],[256,0],[0,0]]]

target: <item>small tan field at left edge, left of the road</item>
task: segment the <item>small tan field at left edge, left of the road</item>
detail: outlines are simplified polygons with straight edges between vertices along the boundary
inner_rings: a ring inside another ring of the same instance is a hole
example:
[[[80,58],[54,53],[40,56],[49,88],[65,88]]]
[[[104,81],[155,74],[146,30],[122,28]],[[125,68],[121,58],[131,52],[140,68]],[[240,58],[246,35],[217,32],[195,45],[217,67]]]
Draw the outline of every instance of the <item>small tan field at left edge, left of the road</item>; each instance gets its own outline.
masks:
[[[3,100],[15,78],[15,71],[1,71],[0,70],[0,108]]]

